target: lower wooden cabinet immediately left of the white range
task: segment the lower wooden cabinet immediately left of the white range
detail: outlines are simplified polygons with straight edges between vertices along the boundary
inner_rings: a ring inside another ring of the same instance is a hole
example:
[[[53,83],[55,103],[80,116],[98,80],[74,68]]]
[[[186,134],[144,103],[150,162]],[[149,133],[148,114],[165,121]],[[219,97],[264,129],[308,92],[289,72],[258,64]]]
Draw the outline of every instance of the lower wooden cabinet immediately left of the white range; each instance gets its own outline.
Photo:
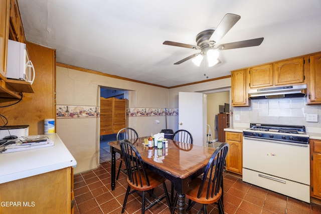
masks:
[[[242,132],[225,132],[226,142],[230,145],[226,156],[226,170],[237,174],[242,174],[243,156],[242,156]]]

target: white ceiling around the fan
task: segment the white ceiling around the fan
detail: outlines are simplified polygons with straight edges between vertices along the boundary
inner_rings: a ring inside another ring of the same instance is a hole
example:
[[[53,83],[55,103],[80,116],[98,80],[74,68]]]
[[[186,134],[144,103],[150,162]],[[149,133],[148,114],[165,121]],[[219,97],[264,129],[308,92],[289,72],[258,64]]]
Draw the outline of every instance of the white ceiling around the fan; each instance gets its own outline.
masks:
[[[57,50],[57,62],[167,87],[321,51],[320,0],[18,0],[26,39]],[[220,43],[264,37],[260,46],[220,51],[221,64],[191,60],[225,14],[241,16]],[[205,75],[204,75],[205,74]]]

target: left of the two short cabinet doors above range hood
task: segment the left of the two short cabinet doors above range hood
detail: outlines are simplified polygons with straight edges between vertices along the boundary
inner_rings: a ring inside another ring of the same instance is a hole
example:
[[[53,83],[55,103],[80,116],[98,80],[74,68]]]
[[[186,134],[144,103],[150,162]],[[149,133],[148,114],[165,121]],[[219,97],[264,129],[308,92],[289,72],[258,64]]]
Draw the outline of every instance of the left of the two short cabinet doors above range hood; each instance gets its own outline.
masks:
[[[250,88],[273,86],[273,65],[250,68]]]

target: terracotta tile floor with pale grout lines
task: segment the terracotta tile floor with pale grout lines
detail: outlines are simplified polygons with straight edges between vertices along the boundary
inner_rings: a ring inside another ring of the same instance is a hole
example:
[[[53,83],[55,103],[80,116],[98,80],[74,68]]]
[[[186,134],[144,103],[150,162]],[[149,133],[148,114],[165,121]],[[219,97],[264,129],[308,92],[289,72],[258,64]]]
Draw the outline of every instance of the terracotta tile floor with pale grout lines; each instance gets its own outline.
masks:
[[[119,165],[117,159],[116,166]],[[117,168],[116,168],[117,170]],[[121,213],[127,188],[126,176],[120,173],[116,188],[111,191],[111,161],[102,162],[95,170],[74,175],[74,213]],[[167,182],[168,189],[171,183]],[[164,193],[162,185],[155,192]],[[138,194],[128,197],[124,213],[141,213],[141,199]],[[316,201],[319,202],[319,201]],[[196,204],[188,213],[197,213]],[[218,213],[216,205],[208,206],[209,213]],[[311,204],[281,195],[242,181],[241,177],[224,172],[225,213],[321,213],[321,205]],[[166,199],[154,205],[145,213],[170,213]]]

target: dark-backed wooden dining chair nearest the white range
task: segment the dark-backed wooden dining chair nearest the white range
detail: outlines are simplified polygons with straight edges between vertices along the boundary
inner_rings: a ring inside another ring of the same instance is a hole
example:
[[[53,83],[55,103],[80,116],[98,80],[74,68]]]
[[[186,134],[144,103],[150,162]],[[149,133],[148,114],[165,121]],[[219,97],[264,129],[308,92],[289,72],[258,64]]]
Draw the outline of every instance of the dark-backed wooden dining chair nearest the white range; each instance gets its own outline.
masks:
[[[207,204],[216,203],[219,208],[219,213],[224,214],[223,201],[221,196],[223,194],[223,168],[227,152],[229,150],[228,143],[222,143],[213,153],[209,162],[206,165],[205,172],[201,177],[193,179],[189,183],[189,189],[186,197],[190,199],[187,211],[192,208],[195,203],[203,204],[204,214],[207,214]],[[178,197],[175,197],[174,204],[176,205]],[[174,213],[175,205],[172,213]],[[200,210],[200,211],[201,211]]]

